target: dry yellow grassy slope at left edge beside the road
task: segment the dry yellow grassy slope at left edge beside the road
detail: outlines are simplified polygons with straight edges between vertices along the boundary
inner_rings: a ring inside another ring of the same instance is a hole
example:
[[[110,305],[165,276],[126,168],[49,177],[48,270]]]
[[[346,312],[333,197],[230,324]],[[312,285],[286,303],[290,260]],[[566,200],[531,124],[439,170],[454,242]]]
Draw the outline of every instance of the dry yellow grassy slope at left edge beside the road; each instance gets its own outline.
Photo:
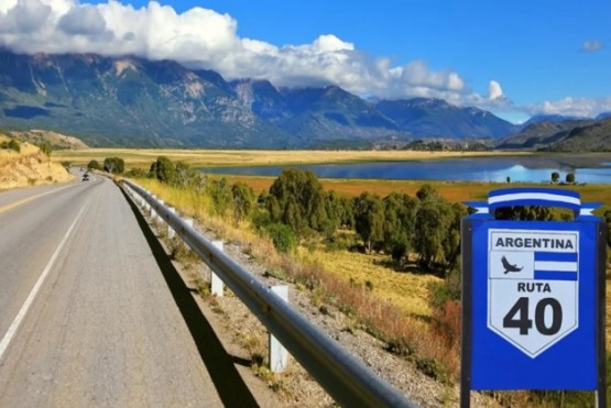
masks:
[[[8,141],[0,133],[0,143]],[[58,163],[51,162],[35,145],[24,142],[20,152],[0,148],[0,190],[37,186],[44,184],[66,183],[70,174]]]

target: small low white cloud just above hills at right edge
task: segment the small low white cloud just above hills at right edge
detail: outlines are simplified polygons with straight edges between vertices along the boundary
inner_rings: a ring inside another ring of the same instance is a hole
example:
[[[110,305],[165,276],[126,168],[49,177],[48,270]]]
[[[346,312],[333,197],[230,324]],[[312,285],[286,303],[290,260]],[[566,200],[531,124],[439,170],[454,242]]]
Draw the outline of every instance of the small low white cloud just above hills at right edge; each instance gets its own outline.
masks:
[[[611,97],[608,98],[564,98],[544,101],[526,108],[534,114],[563,114],[567,117],[593,118],[602,112],[611,112]]]

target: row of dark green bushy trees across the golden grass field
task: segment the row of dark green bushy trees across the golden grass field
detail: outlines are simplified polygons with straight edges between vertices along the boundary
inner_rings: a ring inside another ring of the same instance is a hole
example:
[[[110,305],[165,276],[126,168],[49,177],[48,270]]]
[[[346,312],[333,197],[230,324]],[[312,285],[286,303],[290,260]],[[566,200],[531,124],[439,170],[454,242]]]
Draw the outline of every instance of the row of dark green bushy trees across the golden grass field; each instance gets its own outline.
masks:
[[[209,180],[163,156],[151,165],[148,176],[207,194],[216,214],[231,217],[236,223],[251,220],[282,251],[291,251],[304,239],[329,242],[338,230],[352,230],[364,251],[388,253],[399,264],[414,253],[421,267],[445,273],[456,266],[460,255],[460,220],[467,208],[445,200],[429,185],[416,197],[393,192],[382,198],[363,192],[348,198],[325,191],[313,172],[285,169],[269,191],[257,197],[242,183]]]

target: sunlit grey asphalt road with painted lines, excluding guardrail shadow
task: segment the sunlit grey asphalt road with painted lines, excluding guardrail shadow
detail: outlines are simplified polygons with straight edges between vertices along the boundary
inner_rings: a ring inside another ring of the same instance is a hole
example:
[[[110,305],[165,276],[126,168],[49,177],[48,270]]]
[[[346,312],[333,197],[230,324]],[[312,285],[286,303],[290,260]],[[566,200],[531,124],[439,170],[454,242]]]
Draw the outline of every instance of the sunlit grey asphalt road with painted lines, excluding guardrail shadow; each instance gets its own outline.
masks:
[[[0,407],[222,405],[112,181],[0,194]]]

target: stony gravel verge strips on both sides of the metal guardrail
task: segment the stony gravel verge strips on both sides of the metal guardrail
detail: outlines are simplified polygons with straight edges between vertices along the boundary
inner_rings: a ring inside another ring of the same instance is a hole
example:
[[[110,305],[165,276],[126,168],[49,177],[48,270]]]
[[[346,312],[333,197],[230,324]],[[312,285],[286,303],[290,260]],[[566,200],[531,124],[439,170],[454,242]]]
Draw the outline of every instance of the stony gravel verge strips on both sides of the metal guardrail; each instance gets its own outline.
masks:
[[[196,229],[208,240],[221,239],[215,231],[201,225],[196,225]],[[165,246],[167,249],[167,243]],[[266,273],[268,268],[255,262],[241,243],[225,241],[223,250],[265,285],[288,285],[288,300],[295,309],[358,356],[383,379],[403,392],[415,405],[419,407],[459,405],[458,386],[436,382],[417,371],[405,357],[388,352],[385,343],[360,330],[335,306],[325,305],[325,308],[320,308],[313,305],[307,290],[271,276],[273,274]],[[170,253],[170,250],[167,251]],[[175,266],[187,280],[187,285],[193,288],[205,287],[209,282],[210,272],[200,261],[175,262]],[[290,367],[284,373],[271,374],[264,368],[269,353],[268,332],[229,289],[226,288],[222,297],[201,296],[199,305],[225,349],[241,362],[239,364],[241,366],[237,368],[244,376],[244,382],[251,387],[262,407],[335,406],[332,398],[295,360],[290,359]],[[248,365],[250,367],[247,367]],[[270,390],[273,393],[270,394]],[[477,393],[471,393],[471,404],[477,407],[495,406],[490,398]]]

